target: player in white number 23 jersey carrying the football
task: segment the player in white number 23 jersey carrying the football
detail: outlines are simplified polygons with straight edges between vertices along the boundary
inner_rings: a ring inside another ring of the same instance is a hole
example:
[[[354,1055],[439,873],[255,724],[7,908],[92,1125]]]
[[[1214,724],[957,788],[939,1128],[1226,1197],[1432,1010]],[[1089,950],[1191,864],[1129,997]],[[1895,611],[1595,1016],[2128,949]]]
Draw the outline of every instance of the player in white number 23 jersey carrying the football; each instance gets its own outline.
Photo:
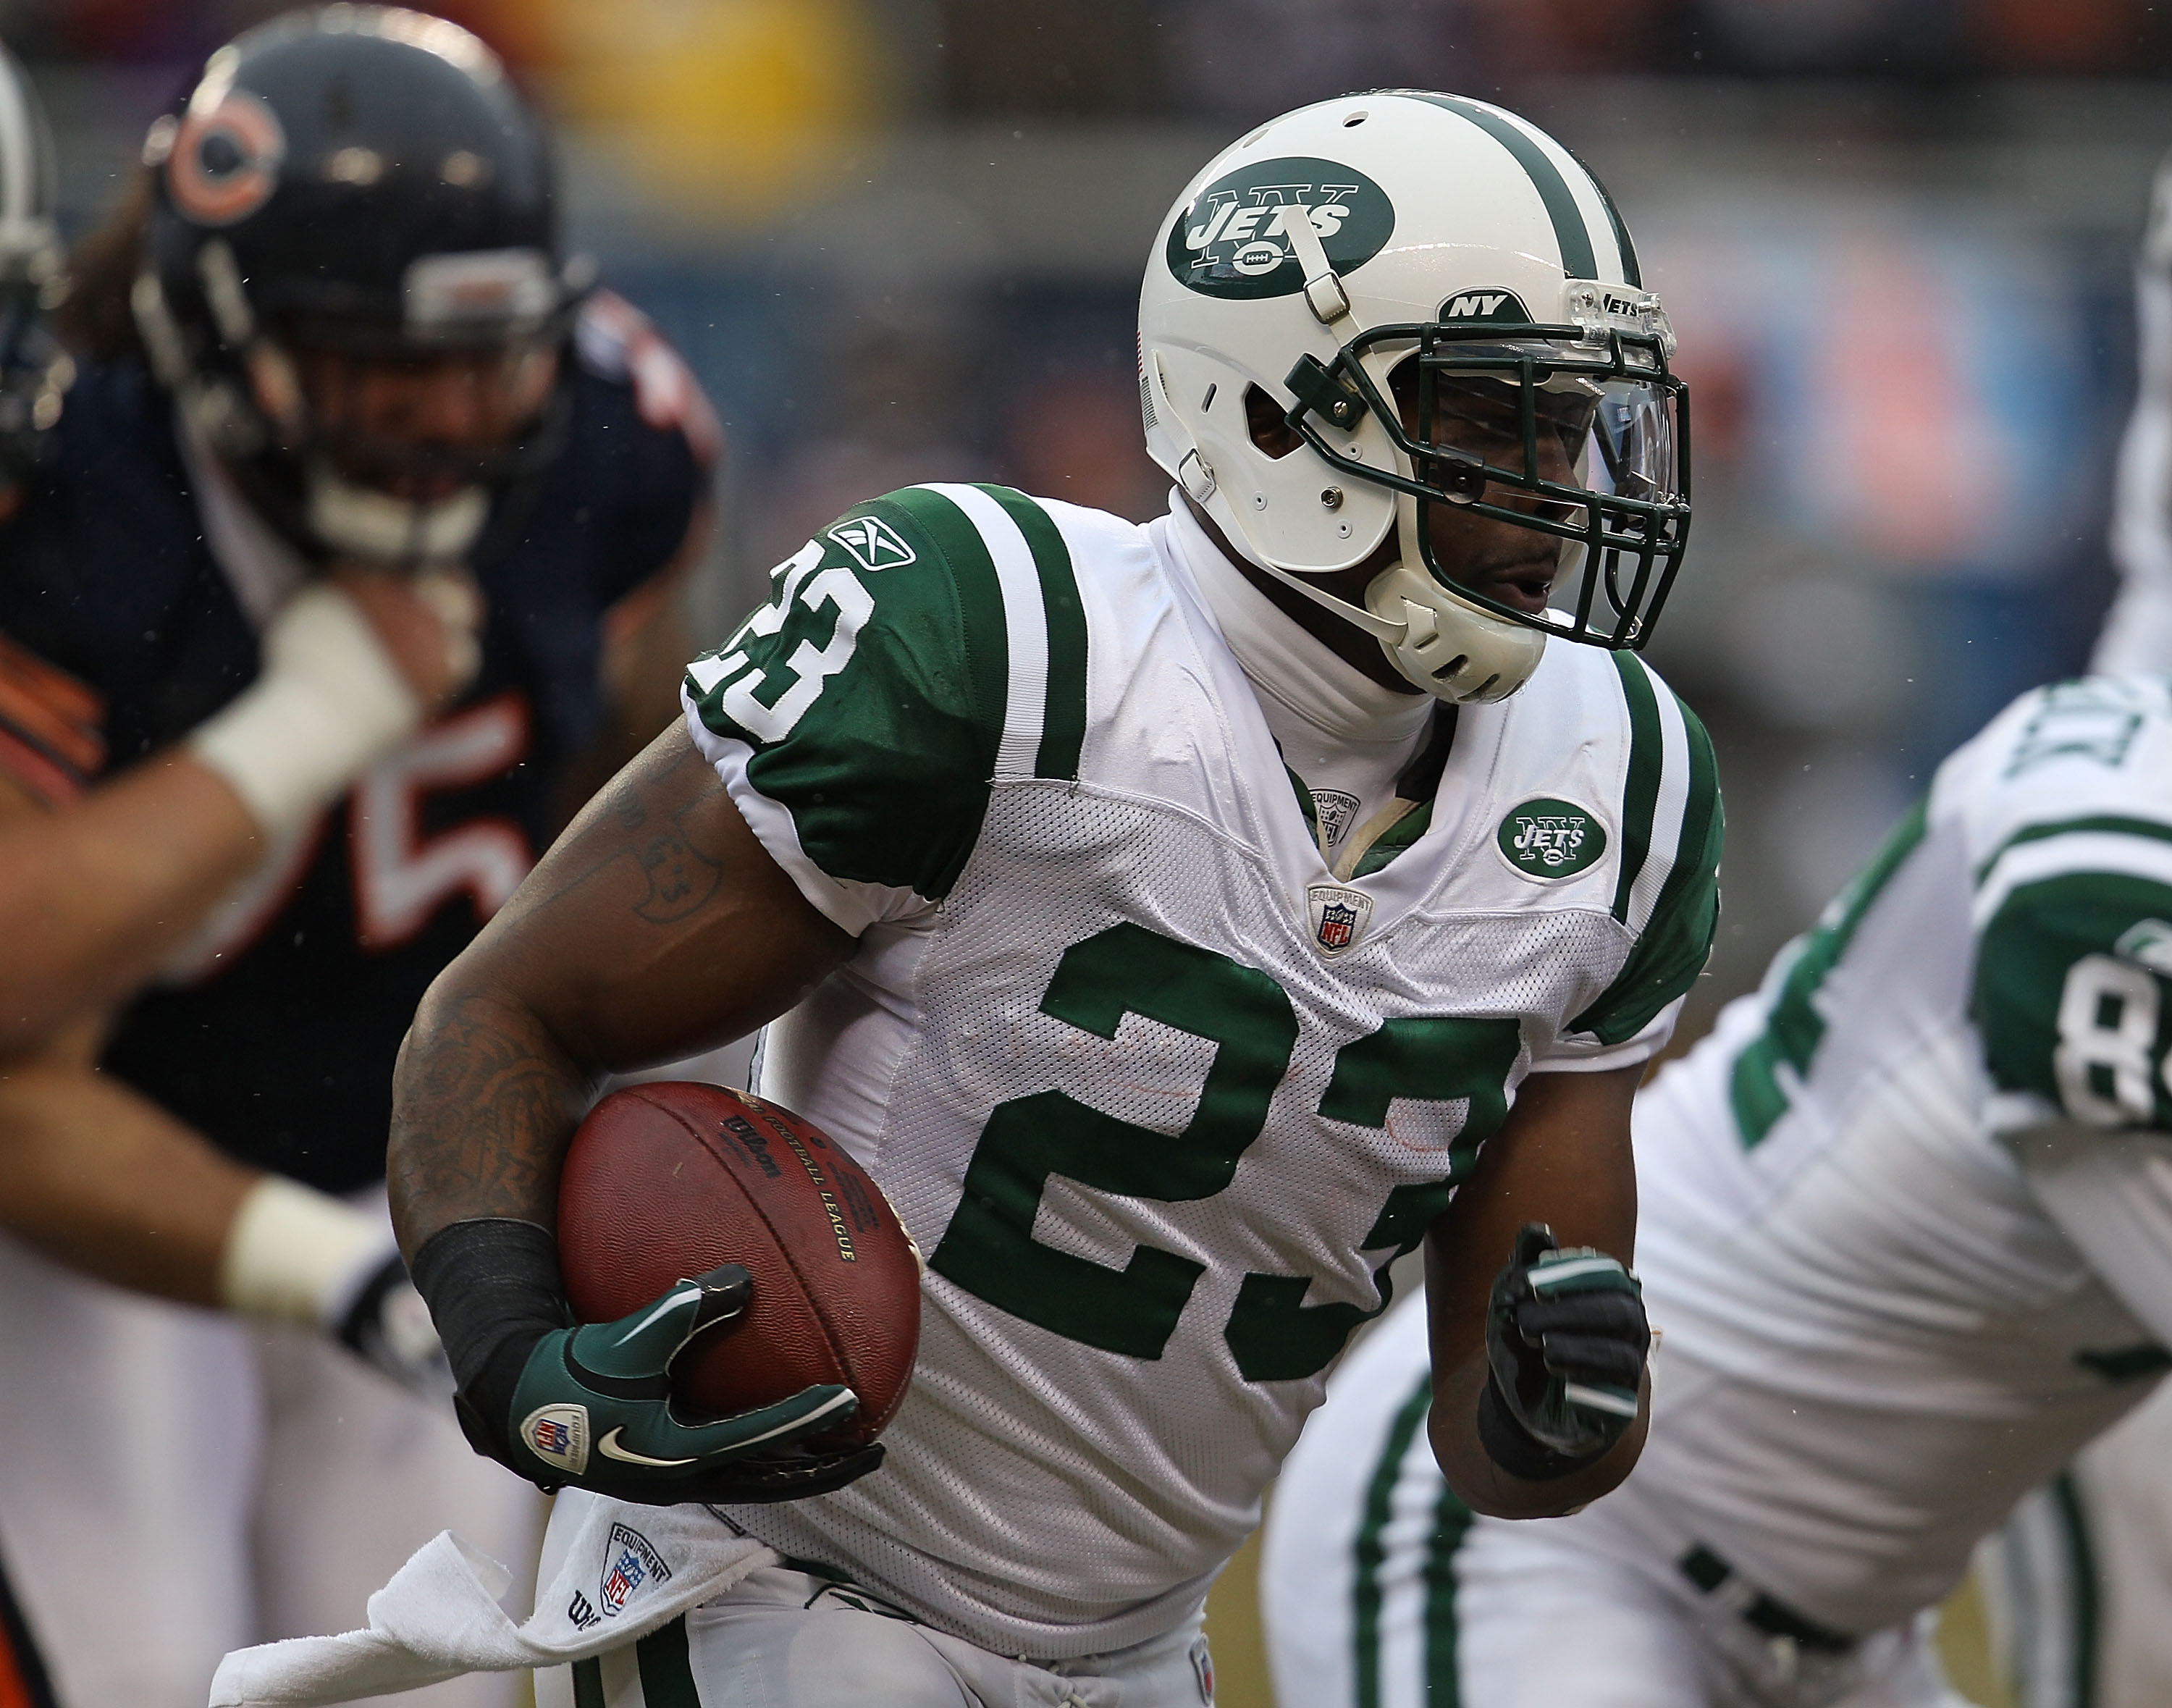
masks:
[[[1323,102],[1156,239],[1166,517],[891,493],[695,661],[397,1078],[469,1434],[623,1560],[604,1612],[554,1591],[593,1636],[545,1697],[1201,1701],[1208,1584],[1420,1243],[1464,1497],[1620,1480],[1629,1097],[1718,902],[1709,743],[1636,656],[1688,524],[1670,350],[1559,143]],[[765,1021],[760,1091],[927,1254],[880,1469],[782,1445],[843,1391],[667,1412],[728,1286],[565,1328],[591,1076]]]

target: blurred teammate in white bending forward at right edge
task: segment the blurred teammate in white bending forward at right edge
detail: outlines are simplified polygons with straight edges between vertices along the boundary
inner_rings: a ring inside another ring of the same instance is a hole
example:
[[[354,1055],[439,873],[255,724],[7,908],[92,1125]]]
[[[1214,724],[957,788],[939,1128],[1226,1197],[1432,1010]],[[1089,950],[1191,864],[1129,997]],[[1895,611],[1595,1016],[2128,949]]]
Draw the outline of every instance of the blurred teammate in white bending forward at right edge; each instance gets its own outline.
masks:
[[[1948,758],[1638,1097],[1636,1473],[1473,1521],[1407,1452],[1427,1349],[1390,1319],[1277,1493],[1284,1699],[1950,1701],[1922,1610],[2168,1365],[2168,843],[2163,678],[2042,689]]]

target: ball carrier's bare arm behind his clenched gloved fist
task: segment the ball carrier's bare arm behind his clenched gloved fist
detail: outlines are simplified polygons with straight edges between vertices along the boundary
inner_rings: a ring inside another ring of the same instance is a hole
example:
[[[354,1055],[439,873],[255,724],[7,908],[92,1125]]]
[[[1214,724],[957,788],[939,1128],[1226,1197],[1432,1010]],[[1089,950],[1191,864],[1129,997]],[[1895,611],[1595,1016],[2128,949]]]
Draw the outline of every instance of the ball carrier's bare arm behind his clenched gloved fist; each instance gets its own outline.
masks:
[[[1516,1230],[1544,1221],[1562,1245],[1636,1258],[1636,1167],[1629,1102],[1642,1067],[1612,1073],[1533,1073],[1479,1156],[1470,1180],[1425,1241],[1425,1299],[1434,1349],[1434,1456],[1455,1495],[1497,1519],[1570,1512],[1614,1489],[1644,1449],[1651,1380],[1629,1432],[1599,1460],[1551,1482],[1503,1471],[1477,1434],[1486,1389],[1486,1302]]]

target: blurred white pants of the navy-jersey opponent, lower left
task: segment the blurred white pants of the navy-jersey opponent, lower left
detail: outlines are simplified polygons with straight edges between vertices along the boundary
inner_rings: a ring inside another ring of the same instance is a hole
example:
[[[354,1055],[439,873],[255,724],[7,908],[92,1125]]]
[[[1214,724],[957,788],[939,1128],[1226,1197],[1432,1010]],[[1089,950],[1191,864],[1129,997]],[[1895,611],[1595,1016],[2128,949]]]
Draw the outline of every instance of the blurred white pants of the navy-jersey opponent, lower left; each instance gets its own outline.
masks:
[[[202,1708],[228,1649],[354,1630],[456,1530],[521,1573],[543,1497],[341,1347],[0,1236],[0,1539],[67,1708]],[[517,1675],[397,1697],[510,1708]]]

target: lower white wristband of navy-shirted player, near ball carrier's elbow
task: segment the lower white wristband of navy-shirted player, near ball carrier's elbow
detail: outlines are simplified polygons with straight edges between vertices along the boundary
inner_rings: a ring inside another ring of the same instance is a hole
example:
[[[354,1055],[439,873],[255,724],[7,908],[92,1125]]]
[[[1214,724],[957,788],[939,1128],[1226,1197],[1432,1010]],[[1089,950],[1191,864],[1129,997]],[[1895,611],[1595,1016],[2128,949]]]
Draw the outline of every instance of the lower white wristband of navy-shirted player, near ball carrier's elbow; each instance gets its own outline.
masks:
[[[330,1330],[393,1249],[384,1223],[267,1173],[235,1210],[219,1302],[243,1317]]]

